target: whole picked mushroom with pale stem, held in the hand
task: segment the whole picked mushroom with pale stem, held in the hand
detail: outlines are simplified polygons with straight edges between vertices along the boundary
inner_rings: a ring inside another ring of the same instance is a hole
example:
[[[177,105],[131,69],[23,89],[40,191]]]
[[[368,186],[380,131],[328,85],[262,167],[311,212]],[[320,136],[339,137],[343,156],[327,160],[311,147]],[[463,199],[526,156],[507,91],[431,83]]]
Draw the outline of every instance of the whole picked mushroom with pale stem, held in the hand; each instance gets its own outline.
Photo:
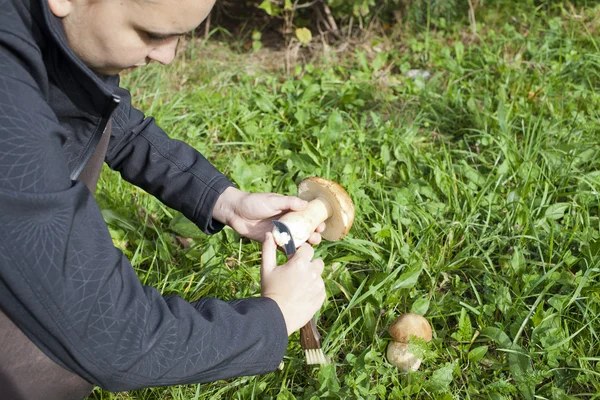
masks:
[[[308,206],[279,219],[290,229],[296,247],[306,242],[321,222],[325,222],[325,230],[321,232],[324,239],[336,241],[346,236],[354,222],[354,203],[344,188],[328,179],[313,176],[300,182],[298,197],[308,201]],[[273,229],[273,237],[279,246],[289,242],[289,237],[277,228]]]

